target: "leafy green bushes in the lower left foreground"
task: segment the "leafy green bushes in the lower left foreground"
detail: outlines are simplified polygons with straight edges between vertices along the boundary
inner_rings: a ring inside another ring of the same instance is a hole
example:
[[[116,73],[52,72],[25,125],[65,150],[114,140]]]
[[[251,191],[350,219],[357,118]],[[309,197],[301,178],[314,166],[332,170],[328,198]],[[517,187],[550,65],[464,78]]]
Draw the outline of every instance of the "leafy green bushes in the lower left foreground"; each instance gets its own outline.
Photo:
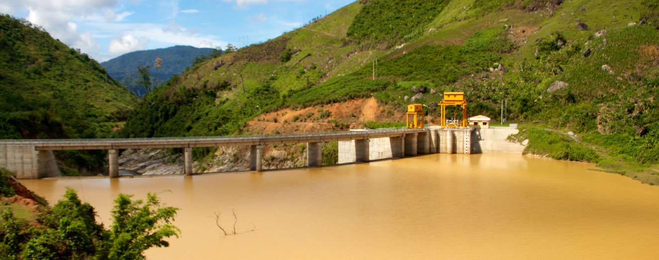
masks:
[[[43,209],[42,225],[17,224],[11,211],[2,214],[0,255],[3,259],[144,259],[150,247],[167,247],[163,240],[180,230],[171,224],[175,207],[163,207],[155,194],[146,201],[119,194],[109,230],[94,219],[89,203],[82,203],[74,190],[50,209]]]

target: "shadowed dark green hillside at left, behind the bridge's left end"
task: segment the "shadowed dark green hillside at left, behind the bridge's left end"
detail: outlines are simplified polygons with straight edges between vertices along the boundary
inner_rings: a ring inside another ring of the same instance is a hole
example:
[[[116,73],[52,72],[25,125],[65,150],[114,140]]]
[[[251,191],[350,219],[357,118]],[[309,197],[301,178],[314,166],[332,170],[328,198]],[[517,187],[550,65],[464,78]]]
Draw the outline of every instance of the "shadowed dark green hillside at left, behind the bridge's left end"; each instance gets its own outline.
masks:
[[[94,59],[26,20],[0,15],[0,139],[109,138],[138,99]],[[57,154],[102,167],[101,152]]]

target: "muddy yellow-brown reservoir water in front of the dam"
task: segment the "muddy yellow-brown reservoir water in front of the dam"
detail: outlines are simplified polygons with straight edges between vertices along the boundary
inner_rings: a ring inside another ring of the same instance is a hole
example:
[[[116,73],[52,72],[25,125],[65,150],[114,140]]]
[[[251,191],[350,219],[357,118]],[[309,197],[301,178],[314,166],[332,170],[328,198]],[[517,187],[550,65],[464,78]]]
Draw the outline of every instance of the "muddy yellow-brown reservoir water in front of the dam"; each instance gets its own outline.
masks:
[[[594,165],[432,154],[196,176],[20,180],[66,187],[111,222],[117,194],[159,192],[180,238],[149,259],[656,259],[659,187]],[[224,236],[215,224],[253,232]]]

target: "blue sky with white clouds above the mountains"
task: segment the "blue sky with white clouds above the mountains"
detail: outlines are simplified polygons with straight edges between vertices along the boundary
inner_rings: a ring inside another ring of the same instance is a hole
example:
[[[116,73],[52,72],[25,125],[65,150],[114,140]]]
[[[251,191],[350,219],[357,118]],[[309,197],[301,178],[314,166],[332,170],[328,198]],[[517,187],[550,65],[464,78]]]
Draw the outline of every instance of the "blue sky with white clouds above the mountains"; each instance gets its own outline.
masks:
[[[225,49],[266,41],[353,1],[0,0],[0,13],[43,26],[102,62],[173,45]]]

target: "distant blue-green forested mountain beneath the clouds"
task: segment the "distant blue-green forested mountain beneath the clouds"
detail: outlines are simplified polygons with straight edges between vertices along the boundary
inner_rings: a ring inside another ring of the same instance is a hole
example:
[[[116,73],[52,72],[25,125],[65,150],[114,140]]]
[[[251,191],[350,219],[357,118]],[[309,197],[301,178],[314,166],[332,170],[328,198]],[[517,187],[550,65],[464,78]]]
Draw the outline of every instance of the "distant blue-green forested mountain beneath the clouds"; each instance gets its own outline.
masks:
[[[137,70],[138,66],[150,66],[149,74],[152,75],[152,82],[156,86],[158,83],[164,84],[175,74],[181,74],[195,61],[200,62],[206,59],[207,55],[212,55],[214,51],[219,50],[177,45],[162,49],[133,51],[105,61],[101,65],[105,67],[110,76],[141,97],[146,94],[146,89],[138,83],[141,80]],[[157,68],[154,66],[156,58],[160,58],[162,61],[161,66]]]

